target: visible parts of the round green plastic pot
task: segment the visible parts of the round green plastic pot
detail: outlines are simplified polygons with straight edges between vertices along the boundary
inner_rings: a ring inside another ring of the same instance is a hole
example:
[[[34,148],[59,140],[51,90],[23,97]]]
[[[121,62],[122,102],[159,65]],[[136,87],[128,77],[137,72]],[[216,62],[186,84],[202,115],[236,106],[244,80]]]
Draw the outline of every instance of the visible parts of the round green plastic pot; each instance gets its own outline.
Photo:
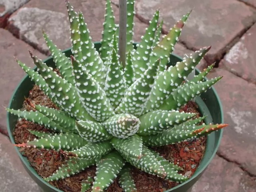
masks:
[[[95,42],[95,47],[98,50],[100,48],[100,42]],[[136,43],[134,44],[134,48],[136,48]],[[71,49],[64,50],[64,53],[66,56],[71,55]],[[170,61],[168,65],[174,65],[176,62],[181,61],[182,58],[179,56],[172,54],[170,56]],[[52,57],[47,58],[44,60],[44,62],[51,67],[55,67],[55,64],[53,62]],[[36,70],[36,68],[34,68]],[[196,69],[196,75],[199,73],[199,71]],[[30,80],[28,75],[26,75],[18,84],[16,89],[14,90],[10,102],[8,104],[8,108],[12,108],[15,110],[18,110],[22,108],[22,104],[24,102],[24,96],[28,96],[28,92],[32,89],[34,85],[34,82]],[[200,97],[197,97],[195,100],[196,104],[199,107],[199,111],[201,114],[207,115],[207,118],[205,119],[205,123],[214,123],[214,124],[221,124],[223,123],[223,112],[222,112],[222,105],[220,102],[220,99],[214,90],[214,88],[211,88],[207,90],[207,92],[204,92],[201,94]],[[13,130],[15,127],[15,124],[18,120],[17,116],[14,116],[13,114],[10,114],[7,112],[7,129],[8,134],[10,137],[11,142],[14,144],[14,137],[13,137]],[[193,174],[193,176],[187,180],[186,182],[179,184],[178,186],[166,190],[166,192],[186,192],[189,190],[194,183],[202,176],[203,172],[206,170],[206,167],[210,164],[212,158],[216,154],[216,151],[218,149],[218,146],[220,145],[220,140],[222,138],[222,130],[218,130],[216,132],[212,132],[210,135],[207,136],[207,143],[206,143],[206,151],[204,154],[204,157],[200,163],[200,166],[197,168],[196,172]],[[28,172],[28,174],[32,177],[32,179],[38,184],[38,186],[42,189],[44,192],[62,192],[61,190],[58,190],[57,188],[54,188],[44,180],[36,173],[36,171],[30,166],[30,163],[28,162],[27,158],[22,156],[22,153],[19,152],[18,148],[16,148],[16,152],[18,153],[18,156]]]

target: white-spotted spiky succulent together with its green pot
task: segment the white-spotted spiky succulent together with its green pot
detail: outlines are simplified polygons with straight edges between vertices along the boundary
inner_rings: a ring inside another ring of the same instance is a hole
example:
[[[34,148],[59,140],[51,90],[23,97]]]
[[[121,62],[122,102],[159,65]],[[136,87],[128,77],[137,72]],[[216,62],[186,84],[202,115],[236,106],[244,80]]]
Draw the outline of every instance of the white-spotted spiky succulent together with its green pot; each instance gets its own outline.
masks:
[[[27,76],[6,108],[8,132],[43,191],[117,191],[114,185],[126,192],[153,191],[152,184],[138,182],[140,174],[161,181],[154,191],[186,191],[216,153],[227,125],[216,92],[206,90],[221,77],[205,78],[211,65],[187,79],[210,46],[183,59],[172,55],[190,12],[160,40],[156,10],[141,42],[134,44],[134,0],[124,2],[120,9],[127,6],[127,14],[120,11],[118,27],[106,0],[102,41],[93,43],[82,13],[66,1],[72,48],[61,52],[43,32],[52,57],[43,62],[30,52],[35,69],[17,59]],[[187,105],[194,98],[198,111]],[[168,146],[169,154],[177,145],[182,156],[196,149],[180,150],[179,144],[199,142],[206,148],[199,159],[190,156],[196,162],[190,174],[184,172],[185,158],[170,158],[161,148]],[[78,173],[76,182],[71,180]]]

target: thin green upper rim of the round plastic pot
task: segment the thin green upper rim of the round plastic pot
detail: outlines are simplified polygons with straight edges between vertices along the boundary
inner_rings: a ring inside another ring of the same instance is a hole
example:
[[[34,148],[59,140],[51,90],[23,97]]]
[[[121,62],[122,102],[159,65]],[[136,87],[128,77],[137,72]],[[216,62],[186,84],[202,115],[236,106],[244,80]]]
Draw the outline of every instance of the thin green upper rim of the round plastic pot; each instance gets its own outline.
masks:
[[[94,43],[94,44],[101,44],[101,42],[93,42],[93,43]],[[134,42],[134,44],[137,44],[137,43]],[[70,51],[70,49],[71,49],[71,48],[64,49],[64,50],[62,50],[62,52],[65,53],[65,52],[67,52],[67,51]],[[173,53],[172,53],[171,55],[182,60],[182,58],[181,58],[180,56],[176,55],[176,54],[173,54]],[[52,58],[52,56],[48,56],[46,59],[43,60],[43,62],[46,62],[47,60],[49,60],[49,59],[51,59],[51,58]],[[36,66],[33,68],[33,70],[35,70],[35,69],[36,69]],[[195,68],[195,70],[196,70],[197,72],[200,72],[200,70],[198,70],[197,68]],[[29,78],[27,74],[24,75],[24,77],[20,80],[20,82],[18,83],[18,85],[17,85],[17,86],[15,87],[15,89],[13,90],[12,95],[11,95],[11,97],[10,97],[10,100],[9,100],[9,102],[8,102],[8,108],[10,108],[10,106],[11,106],[12,98],[14,98],[16,91],[18,90],[18,88],[20,87],[20,85],[22,84],[22,82],[23,82],[26,78]],[[205,78],[206,80],[208,79],[208,78],[206,78],[206,77],[204,77],[204,78]],[[215,88],[212,86],[211,89],[212,89],[214,95],[216,96],[216,99],[218,100],[218,104],[219,104],[219,107],[220,107],[220,119],[221,119],[221,123],[224,123],[224,114],[223,114],[222,103],[221,103],[221,101],[220,101],[220,98],[219,98],[219,96],[218,96],[218,94],[217,94]],[[6,116],[6,121],[7,121],[7,122],[6,122],[6,125],[7,125],[8,135],[9,135],[9,138],[10,138],[12,144],[15,144],[15,141],[14,141],[14,138],[13,138],[13,134],[12,134],[12,132],[11,132],[10,125],[9,125],[9,123],[8,123],[8,122],[9,122],[9,112],[7,112],[6,115],[7,115],[7,116]],[[207,163],[204,164],[204,166],[202,166],[202,167],[200,168],[200,171],[198,171],[196,174],[193,174],[191,178],[189,178],[188,180],[186,180],[186,181],[183,182],[183,183],[178,184],[177,186],[175,186],[175,187],[173,187],[173,188],[171,188],[171,189],[166,190],[166,192],[171,192],[172,190],[181,187],[182,185],[184,185],[184,184],[186,184],[186,183],[188,183],[188,182],[190,182],[190,181],[196,179],[197,176],[199,176],[202,172],[204,172],[204,170],[207,168],[207,166],[210,164],[210,162],[211,162],[212,159],[214,158],[214,156],[215,156],[215,154],[216,154],[216,152],[217,152],[217,150],[218,150],[218,147],[220,146],[220,142],[221,142],[221,138],[222,138],[222,134],[223,134],[223,129],[221,129],[221,130],[219,130],[219,131],[220,131],[220,133],[219,133],[220,136],[219,136],[219,138],[218,138],[218,141],[216,142],[216,148],[215,148],[215,150],[212,152],[212,156],[211,156],[210,158],[208,158]],[[36,172],[32,172],[31,170],[32,170],[33,168],[32,168],[27,162],[24,161],[24,156],[22,156],[22,154],[19,152],[18,147],[15,147],[15,150],[16,150],[16,152],[18,153],[18,156],[19,156],[20,160],[22,161],[22,163],[26,166],[26,168],[27,168],[38,180],[40,180],[40,182],[42,182],[42,183],[44,183],[45,185],[47,185],[48,187],[52,188],[52,189],[55,190],[56,192],[63,192],[62,190],[59,190],[58,188],[55,188],[54,186],[50,185],[48,182],[44,181],[38,174],[36,174]]]

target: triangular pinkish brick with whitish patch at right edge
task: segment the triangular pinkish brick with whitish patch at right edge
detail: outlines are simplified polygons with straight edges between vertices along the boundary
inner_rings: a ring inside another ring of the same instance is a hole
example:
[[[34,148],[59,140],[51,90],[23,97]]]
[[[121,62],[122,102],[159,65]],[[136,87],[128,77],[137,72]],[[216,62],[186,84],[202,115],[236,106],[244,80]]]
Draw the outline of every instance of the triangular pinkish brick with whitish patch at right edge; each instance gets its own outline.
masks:
[[[242,36],[240,41],[229,50],[220,63],[220,66],[224,65],[230,72],[249,82],[256,83],[255,39],[256,24],[254,24],[246,34]]]

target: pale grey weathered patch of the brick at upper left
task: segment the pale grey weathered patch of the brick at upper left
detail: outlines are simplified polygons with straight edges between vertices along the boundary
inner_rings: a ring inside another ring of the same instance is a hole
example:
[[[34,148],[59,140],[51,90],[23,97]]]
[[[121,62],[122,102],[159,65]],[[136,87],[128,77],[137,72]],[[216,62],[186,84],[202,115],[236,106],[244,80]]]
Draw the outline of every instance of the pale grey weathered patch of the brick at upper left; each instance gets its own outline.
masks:
[[[61,12],[44,10],[39,8],[23,7],[9,19],[12,29],[18,31],[18,37],[34,48],[45,54],[49,54],[48,47],[42,36],[42,29],[54,42],[61,42],[59,48],[65,49],[71,46],[69,40],[69,23],[67,15]],[[10,28],[10,27],[9,27]]]

